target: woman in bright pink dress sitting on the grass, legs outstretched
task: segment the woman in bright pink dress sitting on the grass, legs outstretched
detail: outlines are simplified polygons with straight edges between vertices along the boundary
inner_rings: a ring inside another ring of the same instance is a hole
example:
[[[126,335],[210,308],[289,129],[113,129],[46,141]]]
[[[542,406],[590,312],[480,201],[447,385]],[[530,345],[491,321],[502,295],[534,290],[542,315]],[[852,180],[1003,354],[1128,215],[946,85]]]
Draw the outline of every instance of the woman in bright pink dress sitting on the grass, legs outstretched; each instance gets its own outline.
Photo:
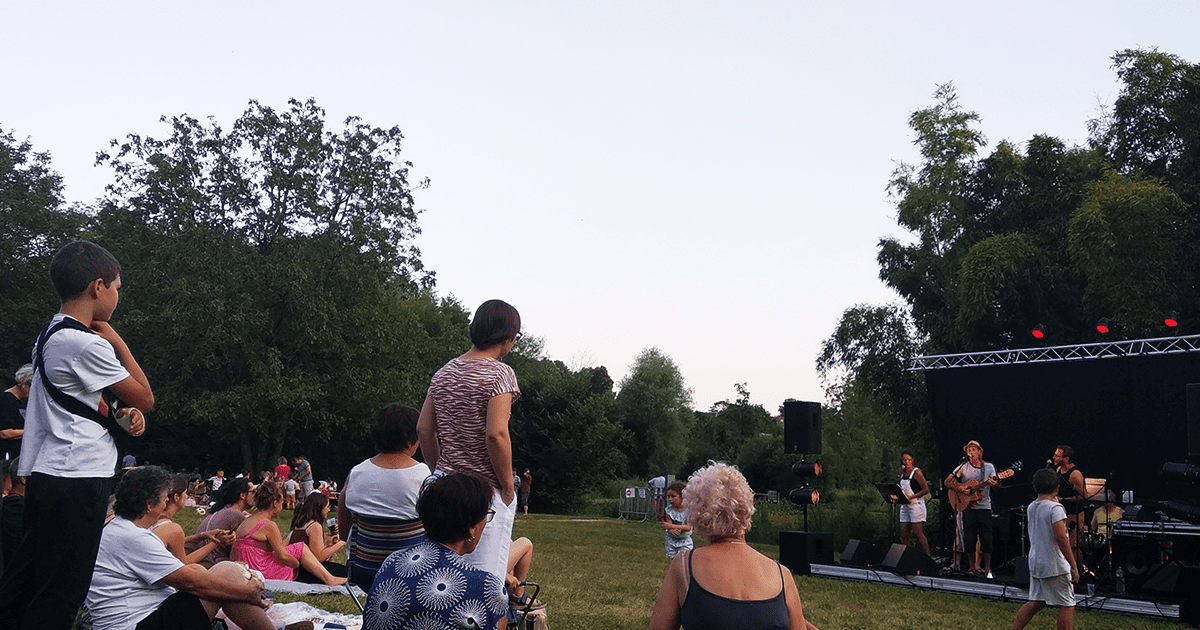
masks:
[[[258,509],[238,526],[233,558],[263,574],[268,580],[295,580],[295,571],[304,566],[329,586],[344,584],[344,577],[334,577],[317,560],[304,542],[283,544],[283,534],[275,518],[283,511],[283,488],[268,481],[254,491]]]

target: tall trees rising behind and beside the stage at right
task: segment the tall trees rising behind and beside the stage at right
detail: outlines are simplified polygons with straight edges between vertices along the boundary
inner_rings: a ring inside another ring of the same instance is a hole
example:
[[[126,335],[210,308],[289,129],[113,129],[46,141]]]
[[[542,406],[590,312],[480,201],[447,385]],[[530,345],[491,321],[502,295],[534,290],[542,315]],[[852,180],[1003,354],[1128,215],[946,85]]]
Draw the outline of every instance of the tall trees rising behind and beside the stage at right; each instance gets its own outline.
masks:
[[[1038,134],[982,155],[949,84],[910,116],[920,161],[888,182],[908,238],[877,254],[901,301],[847,308],[817,360],[835,431],[882,438],[856,438],[872,472],[894,474],[901,448],[936,461],[916,355],[1200,332],[1200,65],[1130,49],[1112,68],[1120,95],[1079,146]]]

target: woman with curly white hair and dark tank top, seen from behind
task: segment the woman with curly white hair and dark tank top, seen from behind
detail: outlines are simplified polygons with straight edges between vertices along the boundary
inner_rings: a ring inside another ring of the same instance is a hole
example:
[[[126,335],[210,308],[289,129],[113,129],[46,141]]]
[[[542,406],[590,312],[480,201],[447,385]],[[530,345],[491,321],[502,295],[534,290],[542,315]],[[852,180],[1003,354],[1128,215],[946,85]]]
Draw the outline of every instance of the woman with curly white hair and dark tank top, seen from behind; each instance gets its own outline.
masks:
[[[746,545],[754,491],[733,466],[709,463],[683,491],[689,522],[708,545],[671,560],[649,630],[816,630],[791,572]]]

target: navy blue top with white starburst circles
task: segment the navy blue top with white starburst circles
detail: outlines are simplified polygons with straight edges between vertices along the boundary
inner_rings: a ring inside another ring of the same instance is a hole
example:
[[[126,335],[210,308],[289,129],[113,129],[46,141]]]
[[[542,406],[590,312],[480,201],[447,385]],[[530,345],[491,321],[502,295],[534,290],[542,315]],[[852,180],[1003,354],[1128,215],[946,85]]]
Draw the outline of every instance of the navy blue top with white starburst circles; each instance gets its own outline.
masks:
[[[457,553],[422,542],[383,562],[362,613],[364,630],[494,630],[508,612],[499,578]]]

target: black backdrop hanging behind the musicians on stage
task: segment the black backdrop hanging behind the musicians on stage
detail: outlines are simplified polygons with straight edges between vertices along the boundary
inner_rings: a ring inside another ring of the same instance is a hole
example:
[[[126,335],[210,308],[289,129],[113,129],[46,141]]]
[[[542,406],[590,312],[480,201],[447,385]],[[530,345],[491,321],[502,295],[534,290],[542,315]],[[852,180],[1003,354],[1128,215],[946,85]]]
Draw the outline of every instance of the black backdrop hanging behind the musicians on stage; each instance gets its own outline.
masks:
[[[943,475],[971,439],[997,470],[1024,461],[992,492],[997,506],[1028,503],[1030,478],[1057,444],[1074,446],[1084,476],[1106,478],[1118,497],[1200,499],[1196,485],[1159,476],[1164,462],[1187,460],[1187,385],[1200,383],[1200,353],[950,367],[925,382]]]

